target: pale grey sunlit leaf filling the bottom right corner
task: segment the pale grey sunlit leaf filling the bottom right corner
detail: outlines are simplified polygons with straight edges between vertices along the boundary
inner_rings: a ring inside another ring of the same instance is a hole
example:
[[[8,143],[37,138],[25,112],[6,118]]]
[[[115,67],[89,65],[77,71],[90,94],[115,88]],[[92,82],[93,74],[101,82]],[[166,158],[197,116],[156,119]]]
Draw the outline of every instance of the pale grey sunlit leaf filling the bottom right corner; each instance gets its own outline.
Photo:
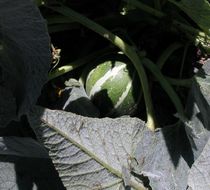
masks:
[[[188,185],[192,190],[210,189],[210,139],[203,152],[193,164],[190,172]]]

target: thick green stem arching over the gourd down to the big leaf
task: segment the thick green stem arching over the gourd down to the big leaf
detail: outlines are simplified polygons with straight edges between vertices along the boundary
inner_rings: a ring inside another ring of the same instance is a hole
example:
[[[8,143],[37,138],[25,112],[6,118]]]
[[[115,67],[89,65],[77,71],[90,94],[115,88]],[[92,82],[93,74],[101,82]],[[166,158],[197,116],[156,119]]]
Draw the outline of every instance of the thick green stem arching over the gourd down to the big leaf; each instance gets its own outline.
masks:
[[[119,49],[121,49],[124,52],[124,54],[132,61],[134,67],[137,70],[137,73],[139,75],[141,85],[142,85],[142,91],[144,94],[144,100],[145,100],[146,111],[147,111],[147,127],[150,128],[151,130],[154,130],[157,126],[156,126],[156,121],[154,117],[154,110],[153,110],[153,105],[151,101],[149,84],[148,84],[146,73],[144,71],[144,67],[141,63],[138,53],[136,52],[136,49],[128,45],[127,43],[125,43],[121,38],[114,35],[113,33],[105,29],[101,25],[82,16],[81,14],[73,11],[72,9],[68,7],[59,6],[59,7],[49,7],[49,8],[51,8],[52,10],[56,12],[59,12],[62,15],[69,17],[70,19],[74,19],[76,22],[79,22],[80,24],[100,34],[101,36],[103,36],[104,38],[112,42]]]

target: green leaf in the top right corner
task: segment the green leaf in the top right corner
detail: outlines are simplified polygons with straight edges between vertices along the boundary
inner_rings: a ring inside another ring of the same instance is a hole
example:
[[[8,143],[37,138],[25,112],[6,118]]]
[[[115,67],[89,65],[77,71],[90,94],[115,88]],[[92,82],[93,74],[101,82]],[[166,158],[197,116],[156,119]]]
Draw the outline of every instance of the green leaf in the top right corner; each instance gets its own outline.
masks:
[[[210,34],[210,4],[207,0],[169,0],[183,10],[207,34]]]

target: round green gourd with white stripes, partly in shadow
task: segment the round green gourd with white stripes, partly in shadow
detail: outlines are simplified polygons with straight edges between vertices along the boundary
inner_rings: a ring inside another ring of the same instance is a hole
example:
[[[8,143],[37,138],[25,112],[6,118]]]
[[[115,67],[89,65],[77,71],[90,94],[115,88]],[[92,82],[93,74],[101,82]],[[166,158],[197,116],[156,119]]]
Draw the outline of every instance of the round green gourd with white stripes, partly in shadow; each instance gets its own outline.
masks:
[[[86,92],[102,116],[131,115],[137,108],[140,83],[136,71],[126,62],[120,56],[101,60],[87,75]]]

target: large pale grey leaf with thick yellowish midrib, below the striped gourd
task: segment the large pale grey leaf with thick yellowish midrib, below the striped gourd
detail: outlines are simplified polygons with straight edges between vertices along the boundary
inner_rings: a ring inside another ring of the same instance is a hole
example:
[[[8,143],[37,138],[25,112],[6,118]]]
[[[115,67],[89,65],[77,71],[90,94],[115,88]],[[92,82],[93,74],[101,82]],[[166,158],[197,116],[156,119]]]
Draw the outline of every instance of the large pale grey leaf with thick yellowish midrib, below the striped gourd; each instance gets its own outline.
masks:
[[[187,187],[193,158],[184,128],[154,133],[137,118],[87,118],[41,107],[29,121],[67,189],[124,189],[125,183],[145,189],[132,171],[154,189]]]

